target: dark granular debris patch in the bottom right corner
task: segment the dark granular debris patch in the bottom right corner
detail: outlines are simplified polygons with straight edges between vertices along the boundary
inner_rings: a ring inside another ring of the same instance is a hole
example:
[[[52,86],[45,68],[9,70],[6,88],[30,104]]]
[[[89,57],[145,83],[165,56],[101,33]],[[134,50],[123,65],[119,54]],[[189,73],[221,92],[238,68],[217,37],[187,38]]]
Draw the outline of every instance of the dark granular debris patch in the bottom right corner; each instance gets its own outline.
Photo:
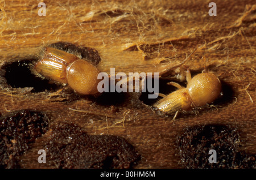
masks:
[[[185,128],[176,139],[181,168],[255,168],[255,155],[240,152],[238,129],[224,125]],[[217,162],[210,163],[210,149],[217,152]]]

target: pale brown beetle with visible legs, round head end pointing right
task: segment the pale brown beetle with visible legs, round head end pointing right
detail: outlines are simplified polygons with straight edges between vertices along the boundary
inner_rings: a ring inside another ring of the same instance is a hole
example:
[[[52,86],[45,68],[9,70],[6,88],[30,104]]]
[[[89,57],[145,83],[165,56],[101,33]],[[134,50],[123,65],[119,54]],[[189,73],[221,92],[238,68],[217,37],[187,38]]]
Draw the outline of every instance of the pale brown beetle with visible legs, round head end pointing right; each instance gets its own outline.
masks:
[[[187,70],[186,79],[186,88],[175,82],[168,83],[177,87],[177,91],[167,96],[160,94],[163,98],[154,106],[164,113],[177,114],[179,110],[190,110],[213,102],[221,93],[220,79],[212,72],[204,72],[191,78],[191,73]]]

